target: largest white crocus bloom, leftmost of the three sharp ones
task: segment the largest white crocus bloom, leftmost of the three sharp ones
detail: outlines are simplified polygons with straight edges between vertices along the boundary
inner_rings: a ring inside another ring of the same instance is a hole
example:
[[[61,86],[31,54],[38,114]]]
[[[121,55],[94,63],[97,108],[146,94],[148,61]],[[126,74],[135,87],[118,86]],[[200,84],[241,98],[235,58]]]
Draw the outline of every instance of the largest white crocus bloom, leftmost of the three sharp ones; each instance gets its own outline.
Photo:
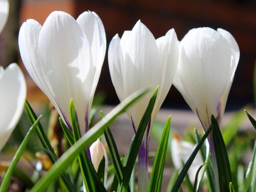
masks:
[[[18,43],[30,76],[70,129],[69,105],[74,100],[84,134],[106,49],[99,16],[89,11],[75,20],[54,11],[43,26],[28,19],[20,28]]]

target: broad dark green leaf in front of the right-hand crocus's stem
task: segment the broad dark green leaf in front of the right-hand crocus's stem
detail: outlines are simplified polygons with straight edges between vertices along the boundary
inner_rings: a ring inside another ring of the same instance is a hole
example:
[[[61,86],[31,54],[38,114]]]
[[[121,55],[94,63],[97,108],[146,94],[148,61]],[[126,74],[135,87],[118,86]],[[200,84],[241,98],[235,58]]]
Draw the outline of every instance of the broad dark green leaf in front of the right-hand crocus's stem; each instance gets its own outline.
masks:
[[[218,165],[220,191],[228,191],[229,183],[232,182],[231,169],[220,127],[213,115],[211,116],[211,126]]]

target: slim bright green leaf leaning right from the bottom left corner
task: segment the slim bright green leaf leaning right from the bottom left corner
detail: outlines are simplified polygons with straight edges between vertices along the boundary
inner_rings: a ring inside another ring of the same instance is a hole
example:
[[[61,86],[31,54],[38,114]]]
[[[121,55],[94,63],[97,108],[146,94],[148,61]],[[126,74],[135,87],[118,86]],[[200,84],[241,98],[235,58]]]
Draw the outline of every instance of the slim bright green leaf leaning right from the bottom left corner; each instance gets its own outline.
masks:
[[[40,115],[38,117],[38,119],[34,122],[34,124],[30,127],[30,129],[29,129],[28,133],[26,134],[24,140],[19,145],[18,150],[16,151],[16,153],[15,153],[15,155],[14,155],[12,161],[11,161],[11,164],[10,164],[10,166],[7,169],[5,177],[4,177],[3,181],[2,181],[2,184],[1,184],[1,187],[0,187],[0,191],[3,191],[3,192],[7,191],[8,186],[9,186],[10,181],[11,181],[13,170],[14,170],[15,166],[17,165],[17,163],[19,161],[19,158],[22,156],[23,151],[25,150],[26,145],[28,144],[30,136],[32,135],[33,131],[35,130],[35,128],[36,128],[37,124],[39,123],[41,117],[42,116]]]

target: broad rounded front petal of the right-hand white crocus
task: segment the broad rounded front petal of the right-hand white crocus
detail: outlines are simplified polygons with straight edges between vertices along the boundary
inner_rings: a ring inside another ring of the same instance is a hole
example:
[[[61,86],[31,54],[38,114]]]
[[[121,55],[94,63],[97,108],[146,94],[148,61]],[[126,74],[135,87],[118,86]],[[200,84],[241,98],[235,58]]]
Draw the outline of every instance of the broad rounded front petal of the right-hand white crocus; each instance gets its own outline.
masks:
[[[198,28],[181,40],[179,54],[178,75],[183,88],[208,126],[228,81],[230,46],[217,31]]]

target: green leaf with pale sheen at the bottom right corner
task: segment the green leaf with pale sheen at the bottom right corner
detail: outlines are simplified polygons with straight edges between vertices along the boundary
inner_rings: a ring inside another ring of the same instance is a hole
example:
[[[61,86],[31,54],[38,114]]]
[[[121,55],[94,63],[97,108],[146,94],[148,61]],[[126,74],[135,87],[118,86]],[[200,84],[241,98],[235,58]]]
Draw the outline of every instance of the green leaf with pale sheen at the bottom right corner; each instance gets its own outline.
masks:
[[[249,165],[248,165],[248,168],[247,168],[247,171],[246,171],[246,175],[245,175],[245,180],[243,182],[244,183],[243,187],[242,187],[243,192],[248,191],[250,186],[253,186],[252,185],[253,178],[254,178],[254,180],[256,178],[256,140],[254,141],[254,147],[253,147],[251,160],[249,162]],[[254,186],[254,188],[255,188],[255,186]],[[255,190],[251,190],[251,191],[255,191]]]

